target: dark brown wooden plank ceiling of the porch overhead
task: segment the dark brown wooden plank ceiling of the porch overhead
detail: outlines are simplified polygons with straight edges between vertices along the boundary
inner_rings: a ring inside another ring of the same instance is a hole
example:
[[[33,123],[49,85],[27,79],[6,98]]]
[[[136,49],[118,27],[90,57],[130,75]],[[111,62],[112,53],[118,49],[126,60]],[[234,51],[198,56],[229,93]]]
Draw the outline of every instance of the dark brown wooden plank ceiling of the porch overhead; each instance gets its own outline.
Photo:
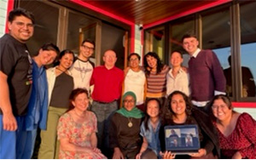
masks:
[[[175,14],[182,14],[195,8],[207,5],[213,0],[83,0],[111,14],[119,15],[137,25],[148,25]]]

